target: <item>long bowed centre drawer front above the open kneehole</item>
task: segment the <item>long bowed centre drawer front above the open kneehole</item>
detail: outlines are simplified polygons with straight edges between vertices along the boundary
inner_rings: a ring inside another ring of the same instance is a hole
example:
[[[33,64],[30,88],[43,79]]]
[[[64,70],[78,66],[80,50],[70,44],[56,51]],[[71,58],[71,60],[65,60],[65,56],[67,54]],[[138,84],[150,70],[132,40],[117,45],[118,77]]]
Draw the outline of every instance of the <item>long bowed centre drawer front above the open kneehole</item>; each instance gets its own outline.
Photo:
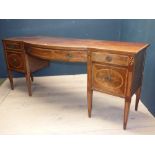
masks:
[[[87,51],[74,51],[74,50],[53,50],[30,47],[26,50],[29,54],[46,59],[46,60],[58,60],[68,62],[86,62]]]

